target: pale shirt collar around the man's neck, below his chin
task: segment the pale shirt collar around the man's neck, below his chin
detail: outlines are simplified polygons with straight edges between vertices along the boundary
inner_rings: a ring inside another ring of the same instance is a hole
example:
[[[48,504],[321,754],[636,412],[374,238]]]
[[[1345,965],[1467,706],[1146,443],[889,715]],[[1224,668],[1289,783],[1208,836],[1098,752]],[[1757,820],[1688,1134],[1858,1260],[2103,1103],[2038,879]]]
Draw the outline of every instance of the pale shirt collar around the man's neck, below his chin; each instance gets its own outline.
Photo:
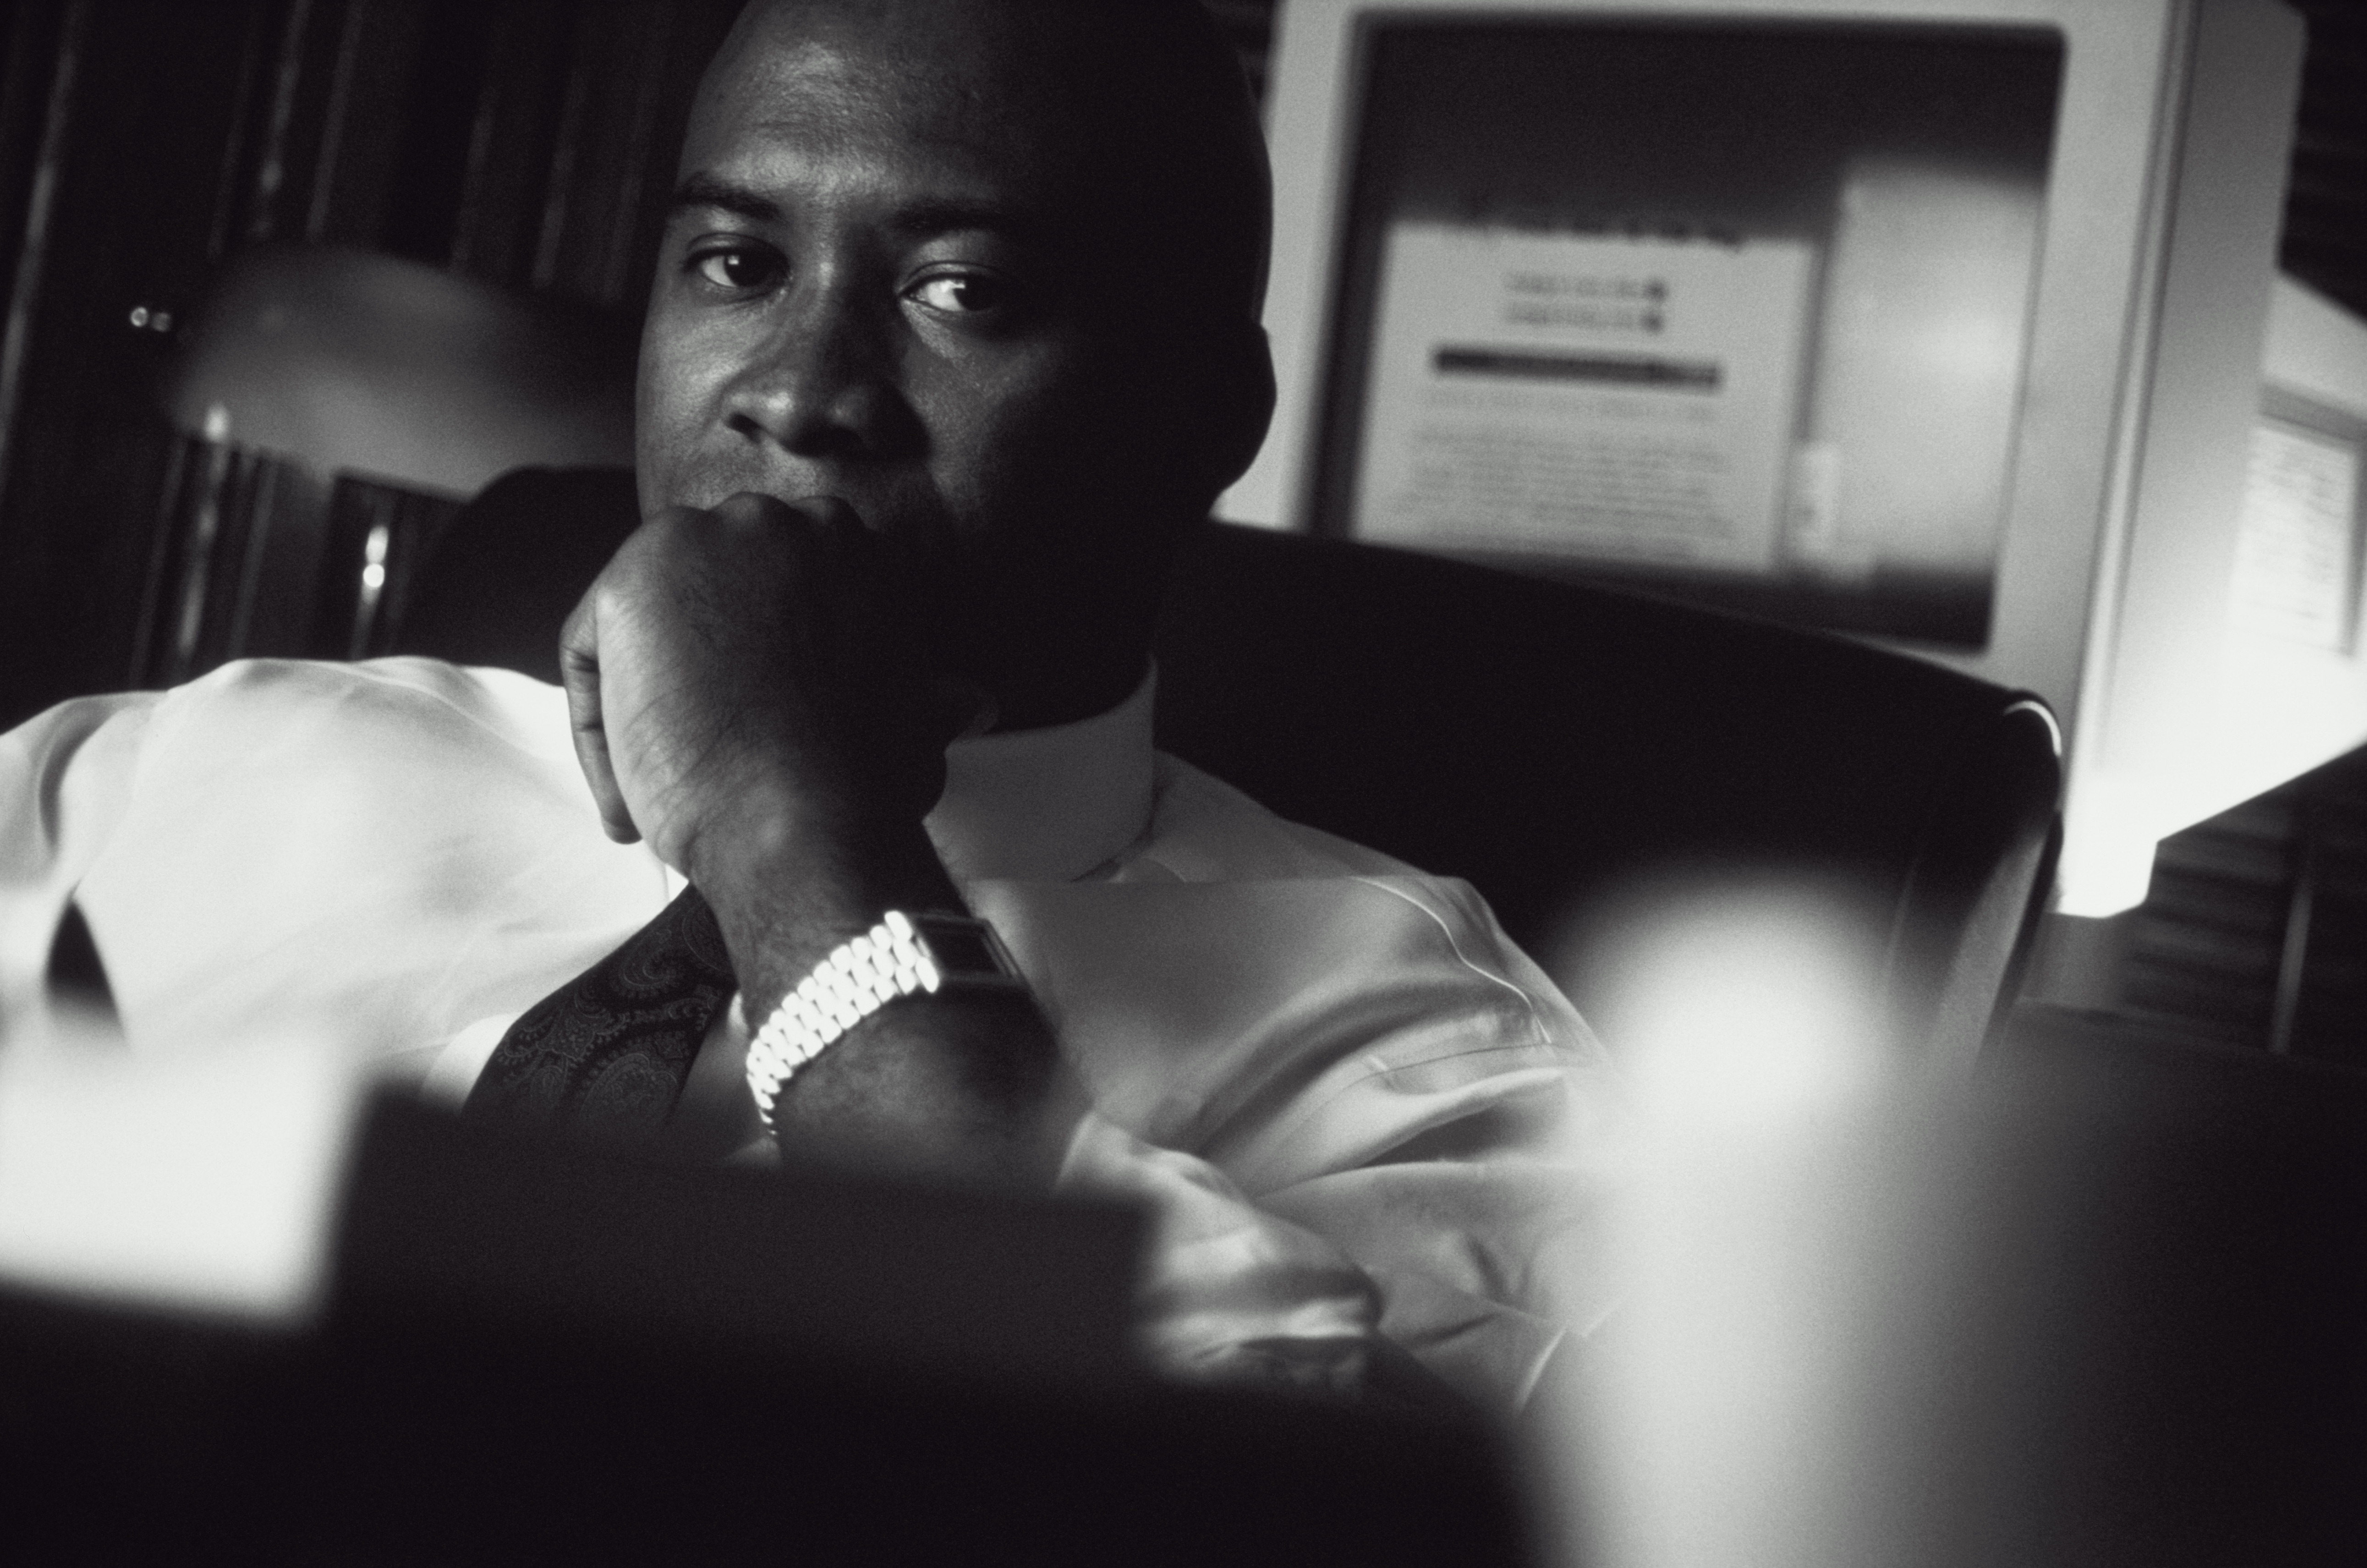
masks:
[[[1157,668],[1127,701],[1075,725],[947,746],[928,836],[954,881],[1075,881],[1141,838],[1155,687]]]

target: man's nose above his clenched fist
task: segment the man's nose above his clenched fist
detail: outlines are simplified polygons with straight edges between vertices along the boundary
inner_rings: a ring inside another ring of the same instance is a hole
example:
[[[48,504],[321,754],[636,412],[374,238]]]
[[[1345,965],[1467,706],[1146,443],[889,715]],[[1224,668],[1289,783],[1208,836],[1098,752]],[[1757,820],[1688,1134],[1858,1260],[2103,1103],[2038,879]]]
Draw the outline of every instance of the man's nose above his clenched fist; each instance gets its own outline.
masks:
[[[890,457],[918,422],[895,377],[892,324],[833,279],[800,282],[734,381],[724,424],[795,457]]]

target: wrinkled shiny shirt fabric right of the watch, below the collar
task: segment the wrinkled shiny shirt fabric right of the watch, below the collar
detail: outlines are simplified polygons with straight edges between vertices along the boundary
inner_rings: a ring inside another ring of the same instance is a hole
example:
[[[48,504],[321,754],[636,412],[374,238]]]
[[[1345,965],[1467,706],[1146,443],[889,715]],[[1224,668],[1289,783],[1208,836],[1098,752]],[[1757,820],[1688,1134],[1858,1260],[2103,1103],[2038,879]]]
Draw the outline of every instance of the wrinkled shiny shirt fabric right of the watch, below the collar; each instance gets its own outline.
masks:
[[[1162,1364],[1342,1386],[1380,1338],[1515,1412],[1612,1305],[1617,1075],[1468,883],[1276,829],[1283,876],[973,891],[1108,1123],[1068,1180],[1150,1206]]]

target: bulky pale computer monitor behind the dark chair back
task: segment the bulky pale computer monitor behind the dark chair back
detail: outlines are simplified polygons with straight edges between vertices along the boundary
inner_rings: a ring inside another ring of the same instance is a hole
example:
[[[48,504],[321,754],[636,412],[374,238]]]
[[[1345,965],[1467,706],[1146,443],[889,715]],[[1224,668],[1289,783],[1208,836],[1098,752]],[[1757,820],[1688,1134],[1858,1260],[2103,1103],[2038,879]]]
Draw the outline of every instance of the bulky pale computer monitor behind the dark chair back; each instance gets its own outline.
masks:
[[[2161,779],[2223,682],[2298,64],[2275,0],[1288,0],[1281,405],[1219,514],[2038,692],[2066,895],[2135,902],[2208,793]]]

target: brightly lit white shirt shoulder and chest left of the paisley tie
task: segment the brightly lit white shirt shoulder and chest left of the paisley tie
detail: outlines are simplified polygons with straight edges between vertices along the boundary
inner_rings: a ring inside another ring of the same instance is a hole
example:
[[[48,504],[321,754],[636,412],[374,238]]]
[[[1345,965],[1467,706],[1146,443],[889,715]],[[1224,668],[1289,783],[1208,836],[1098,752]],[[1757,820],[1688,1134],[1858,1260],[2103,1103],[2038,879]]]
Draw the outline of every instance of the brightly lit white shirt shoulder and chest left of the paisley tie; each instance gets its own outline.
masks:
[[[665,900],[599,831],[563,694],[502,670],[239,661],[54,708],[0,770],[7,962],[40,964],[71,898],[142,1056],[424,1066]]]

